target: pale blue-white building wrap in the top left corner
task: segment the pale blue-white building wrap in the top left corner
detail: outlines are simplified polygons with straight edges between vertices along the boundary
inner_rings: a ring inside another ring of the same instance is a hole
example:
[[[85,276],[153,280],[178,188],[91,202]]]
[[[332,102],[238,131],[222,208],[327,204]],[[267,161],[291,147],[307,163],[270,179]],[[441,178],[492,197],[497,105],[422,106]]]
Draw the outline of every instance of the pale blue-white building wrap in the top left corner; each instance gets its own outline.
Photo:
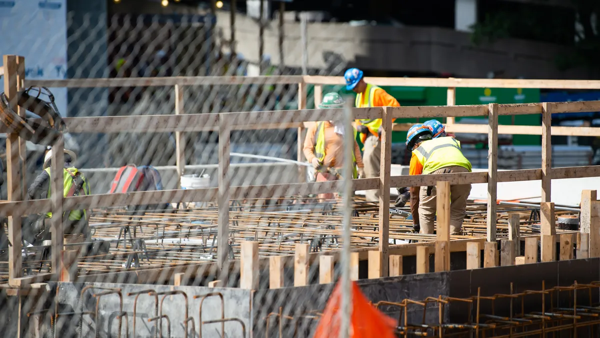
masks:
[[[67,0],[0,0],[0,35],[0,55],[25,57],[26,79],[67,77]],[[67,89],[50,90],[68,115]]]

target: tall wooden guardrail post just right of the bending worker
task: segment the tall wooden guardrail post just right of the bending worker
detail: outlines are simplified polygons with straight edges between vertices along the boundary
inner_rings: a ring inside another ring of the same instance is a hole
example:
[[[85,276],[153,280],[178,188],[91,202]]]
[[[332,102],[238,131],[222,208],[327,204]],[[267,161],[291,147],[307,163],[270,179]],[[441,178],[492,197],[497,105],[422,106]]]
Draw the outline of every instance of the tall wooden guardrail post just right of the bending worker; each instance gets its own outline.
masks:
[[[496,200],[498,182],[498,104],[488,105],[488,209],[487,241],[496,241]]]

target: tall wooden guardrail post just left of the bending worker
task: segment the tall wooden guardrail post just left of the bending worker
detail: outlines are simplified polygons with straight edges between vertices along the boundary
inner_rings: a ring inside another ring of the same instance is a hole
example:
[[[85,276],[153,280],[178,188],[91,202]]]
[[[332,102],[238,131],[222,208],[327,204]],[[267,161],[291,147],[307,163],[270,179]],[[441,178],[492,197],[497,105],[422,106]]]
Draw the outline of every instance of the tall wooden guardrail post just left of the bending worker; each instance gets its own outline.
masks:
[[[381,161],[379,167],[379,251],[382,254],[381,277],[388,276],[389,267],[389,180],[392,164],[392,112],[382,111]]]

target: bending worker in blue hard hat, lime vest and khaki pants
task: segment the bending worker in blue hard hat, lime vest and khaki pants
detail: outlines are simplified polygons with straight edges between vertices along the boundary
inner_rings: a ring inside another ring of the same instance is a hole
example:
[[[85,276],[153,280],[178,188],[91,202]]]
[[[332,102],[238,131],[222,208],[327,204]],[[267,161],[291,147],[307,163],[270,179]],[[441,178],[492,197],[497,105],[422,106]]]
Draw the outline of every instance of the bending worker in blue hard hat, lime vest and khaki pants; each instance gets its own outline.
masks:
[[[441,135],[441,134],[440,134]],[[452,137],[433,138],[433,131],[425,124],[415,124],[406,137],[406,149],[412,152],[410,175],[470,173],[471,163],[460,150],[460,142]],[[466,215],[470,184],[450,187],[450,233],[458,234]],[[436,217],[436,187],[410,188],[410,212],[413,227],[421,233],[433,233]]]

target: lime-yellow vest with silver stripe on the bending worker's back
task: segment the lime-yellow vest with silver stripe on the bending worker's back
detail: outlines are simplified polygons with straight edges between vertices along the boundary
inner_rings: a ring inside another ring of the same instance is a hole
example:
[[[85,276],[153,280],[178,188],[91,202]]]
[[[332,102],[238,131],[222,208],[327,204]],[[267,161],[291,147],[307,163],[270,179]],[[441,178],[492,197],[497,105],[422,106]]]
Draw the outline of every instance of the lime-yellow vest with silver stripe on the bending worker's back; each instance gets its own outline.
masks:
[[[461,152],[460,141],[452,137],[438,137],[423,141],[417,149],[413,150],[413,154],[423,166],[424,174],[451,165],[459,165],[471,171],[471,162]]]

